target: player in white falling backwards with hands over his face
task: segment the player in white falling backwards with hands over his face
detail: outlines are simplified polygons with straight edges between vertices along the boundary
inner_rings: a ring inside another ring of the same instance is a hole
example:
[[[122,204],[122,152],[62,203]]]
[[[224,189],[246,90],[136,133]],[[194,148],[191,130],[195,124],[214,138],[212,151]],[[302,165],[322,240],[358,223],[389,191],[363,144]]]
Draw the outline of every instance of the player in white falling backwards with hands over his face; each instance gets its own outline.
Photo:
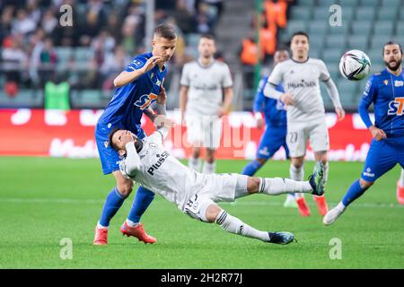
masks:
[[[264,242],[288,244],[290,232],[256,230],[220,208],[216,202],[233,202],[255,193],[280,195],[288,192],[323,194],[322,164],[316,164],[309,181],[288,178],[251,178],[240,174],[203,174],[183,165],[166,151],[162,142],[168,128],[160,127],[149,137],[137,139],[130,131],[115,129],[110,146],[122,157],[119,168],[125,178],[176,204],[183,213],[202,222],[216,222],[224,230]],[[127,224],[127,223],[126,223]]]

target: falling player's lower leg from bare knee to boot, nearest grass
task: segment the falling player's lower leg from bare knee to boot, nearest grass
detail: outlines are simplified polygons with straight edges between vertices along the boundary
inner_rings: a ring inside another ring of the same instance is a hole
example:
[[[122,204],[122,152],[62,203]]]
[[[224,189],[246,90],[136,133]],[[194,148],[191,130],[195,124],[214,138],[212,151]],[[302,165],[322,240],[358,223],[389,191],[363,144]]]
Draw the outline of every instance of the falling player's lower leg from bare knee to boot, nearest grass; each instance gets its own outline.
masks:
[[[294,241],[294,234],[286,231],[268,232],[256,230],[237,217],[225,212],[216,204],[210,204],[206,209],[206,221],[215,222],[222,229],[251,239],[259,239],[268,243],[289,244]]]

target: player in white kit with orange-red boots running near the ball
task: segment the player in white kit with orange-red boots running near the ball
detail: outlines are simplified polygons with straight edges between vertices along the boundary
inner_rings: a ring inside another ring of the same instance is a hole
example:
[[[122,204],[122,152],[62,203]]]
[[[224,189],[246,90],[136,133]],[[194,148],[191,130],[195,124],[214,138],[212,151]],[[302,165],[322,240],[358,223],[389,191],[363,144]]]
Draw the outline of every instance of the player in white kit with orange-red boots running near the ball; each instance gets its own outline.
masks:
[[[290,47],[292,58],[275,67],[268,78],[264,94],[284,101],[287,107],[286,143],[292,158],[291,178],[303,180],[306,143],[310,139],[315,160],[321,161],[324,165],[325,185],[329,170],[327,161],[329,132],[319,81],[326,84],[339,119],[345,117],[345,111],[342,109],[337,87],[329,76],[326,65],[320,59],[309,58],[309,36],[302,31],[294,33]],[[275,90],[279,83],[283,83],[285,93]],[[303,194],[294,196],[302,216],[310,215],[310,209],[304,201]],[[324,196],[315,196],[314,199],[321,215],[325,215],[328,206]]]

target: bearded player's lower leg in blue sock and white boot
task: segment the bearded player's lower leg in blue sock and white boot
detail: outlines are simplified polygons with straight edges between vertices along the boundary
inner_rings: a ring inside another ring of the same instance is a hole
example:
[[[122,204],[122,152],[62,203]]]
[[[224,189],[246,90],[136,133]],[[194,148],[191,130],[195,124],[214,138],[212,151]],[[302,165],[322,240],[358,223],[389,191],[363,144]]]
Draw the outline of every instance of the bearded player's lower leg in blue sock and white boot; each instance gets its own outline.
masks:
[[[367,188],[371,187],[373,182],[365,181],[364,179],[357,179],[351,187],[348,188],[347,194],[344,196],[339,204],[329,210],[329,212],[323,217],[322,222],[325,225],[330,225],[337,221],[338,217],[345,212],[347,206],[351,204],[356,198],[362,196]]]

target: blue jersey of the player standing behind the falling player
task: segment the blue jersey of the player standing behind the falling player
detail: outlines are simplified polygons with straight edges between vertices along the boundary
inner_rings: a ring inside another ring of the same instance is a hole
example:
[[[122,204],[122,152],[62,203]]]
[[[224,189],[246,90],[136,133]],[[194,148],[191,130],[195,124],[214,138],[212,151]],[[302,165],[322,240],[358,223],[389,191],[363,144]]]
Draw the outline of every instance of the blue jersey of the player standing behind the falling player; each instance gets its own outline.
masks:
[[[135,57],[125,71],[132,72],[142,68],[150,57],[153,57],[152,53]],[[119,126],[138,135],[143,111],[157,99],[165,74],[167,74],[166,65],[162,71],[155,65],[132,83],[118,88],[98,120],[98,125],[109,128]]]

